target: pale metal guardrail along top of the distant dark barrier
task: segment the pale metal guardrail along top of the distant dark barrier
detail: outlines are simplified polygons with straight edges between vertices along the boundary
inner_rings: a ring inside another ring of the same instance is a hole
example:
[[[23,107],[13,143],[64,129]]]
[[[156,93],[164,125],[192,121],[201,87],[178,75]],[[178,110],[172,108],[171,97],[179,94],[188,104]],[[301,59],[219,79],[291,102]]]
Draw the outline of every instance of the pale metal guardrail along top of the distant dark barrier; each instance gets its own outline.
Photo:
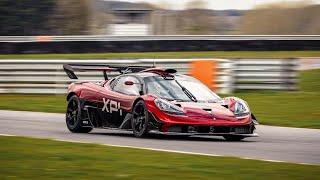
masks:
[[[320,40],[320,35],[154,35],[154,36],[0,36],[0,42],[189,40]]]

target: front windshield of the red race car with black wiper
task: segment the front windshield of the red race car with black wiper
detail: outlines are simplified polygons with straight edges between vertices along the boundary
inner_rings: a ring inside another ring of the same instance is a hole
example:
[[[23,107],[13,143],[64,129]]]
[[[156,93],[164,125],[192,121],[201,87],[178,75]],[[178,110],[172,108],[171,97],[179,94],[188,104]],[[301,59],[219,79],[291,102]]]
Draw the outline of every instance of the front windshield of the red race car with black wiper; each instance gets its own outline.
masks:
[[[167,100],[216,102],[220,99],[207,86],[188,76],[176,77],[175,79],[152,76],[146,77],[144,80],[147,94]]]

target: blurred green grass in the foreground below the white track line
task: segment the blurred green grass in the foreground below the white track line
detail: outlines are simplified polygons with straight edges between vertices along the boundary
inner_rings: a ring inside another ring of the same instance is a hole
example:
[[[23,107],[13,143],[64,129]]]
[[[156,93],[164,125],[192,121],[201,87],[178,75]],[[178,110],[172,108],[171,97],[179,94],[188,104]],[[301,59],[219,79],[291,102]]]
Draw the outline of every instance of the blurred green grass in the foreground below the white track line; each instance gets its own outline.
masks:
[[[0,137],[1,179],[317,179],[320,166]]]

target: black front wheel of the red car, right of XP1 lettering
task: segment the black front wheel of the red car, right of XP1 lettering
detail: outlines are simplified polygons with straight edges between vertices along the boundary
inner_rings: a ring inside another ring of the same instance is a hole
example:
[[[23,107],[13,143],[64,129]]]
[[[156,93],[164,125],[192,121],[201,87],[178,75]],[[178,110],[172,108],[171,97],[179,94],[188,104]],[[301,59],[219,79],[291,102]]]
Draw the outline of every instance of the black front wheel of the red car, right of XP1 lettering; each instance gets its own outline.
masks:
[[[149,112],[143,100],[139,100],[132,109],[132,131],[136,137],[148,134]]]

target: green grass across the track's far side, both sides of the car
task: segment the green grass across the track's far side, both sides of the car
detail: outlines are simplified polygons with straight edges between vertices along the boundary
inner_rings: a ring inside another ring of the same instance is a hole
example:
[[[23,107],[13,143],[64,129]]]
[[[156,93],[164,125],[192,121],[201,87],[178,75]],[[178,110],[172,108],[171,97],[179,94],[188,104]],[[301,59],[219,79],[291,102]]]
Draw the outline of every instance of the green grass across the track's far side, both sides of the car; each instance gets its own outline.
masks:
[[[300,74],[300,90],[292,92],[249,91],[233,96],[248,101],[261,124],[320,129],[320,70]],[[63,95],[0,95],[0,109],[65,112]]]

